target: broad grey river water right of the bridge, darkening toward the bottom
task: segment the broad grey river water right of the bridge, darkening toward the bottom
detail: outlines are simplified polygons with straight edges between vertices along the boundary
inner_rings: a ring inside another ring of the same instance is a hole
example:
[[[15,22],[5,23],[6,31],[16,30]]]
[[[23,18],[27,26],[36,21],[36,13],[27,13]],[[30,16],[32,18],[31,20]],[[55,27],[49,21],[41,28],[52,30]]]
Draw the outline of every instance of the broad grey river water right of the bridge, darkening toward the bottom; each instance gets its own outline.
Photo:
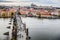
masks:
[[[29,28],[30,40],[60,40],[60,19],[22,19]]]

